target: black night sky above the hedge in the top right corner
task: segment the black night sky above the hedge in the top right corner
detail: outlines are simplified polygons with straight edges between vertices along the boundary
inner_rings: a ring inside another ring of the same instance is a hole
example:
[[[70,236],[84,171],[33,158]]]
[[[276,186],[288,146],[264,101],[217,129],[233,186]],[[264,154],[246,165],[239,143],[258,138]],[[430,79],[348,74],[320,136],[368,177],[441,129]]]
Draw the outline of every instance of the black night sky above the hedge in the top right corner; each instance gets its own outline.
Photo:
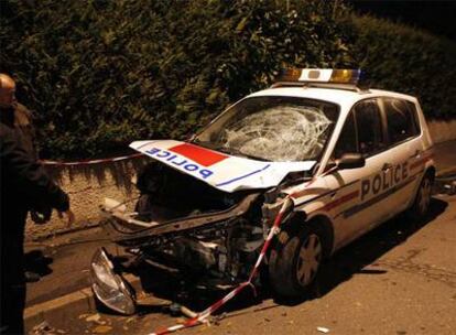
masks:
[[[456,41],[456,1],[349,1],[359,13],[406,23]]]

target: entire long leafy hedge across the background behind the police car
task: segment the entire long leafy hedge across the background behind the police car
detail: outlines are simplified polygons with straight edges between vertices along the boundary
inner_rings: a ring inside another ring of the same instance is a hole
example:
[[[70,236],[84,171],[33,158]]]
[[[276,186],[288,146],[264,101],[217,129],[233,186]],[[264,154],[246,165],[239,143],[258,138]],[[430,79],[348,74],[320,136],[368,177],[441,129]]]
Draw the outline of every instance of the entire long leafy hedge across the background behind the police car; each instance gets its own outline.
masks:
[[[0,71],[13,74],[19,99],[35,111],[43,158],[109,155],[137,139],[185,139],[287,66],[359,66],[372,85],[422,97],[428,116],[454,112],[454,44],[352,19],[338,1],[0,6]]]

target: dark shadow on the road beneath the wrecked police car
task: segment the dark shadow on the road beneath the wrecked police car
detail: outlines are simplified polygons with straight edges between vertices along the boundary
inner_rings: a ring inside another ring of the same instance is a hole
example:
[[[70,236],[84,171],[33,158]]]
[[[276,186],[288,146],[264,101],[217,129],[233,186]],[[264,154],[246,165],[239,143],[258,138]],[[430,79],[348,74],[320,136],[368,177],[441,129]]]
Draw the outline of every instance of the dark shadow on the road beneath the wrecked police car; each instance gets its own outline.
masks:
[[[343,248],[339,252],[334,255],[330,260],[322,266],[315,288],[312,292],[310,292],[310,294],[303,296],[302,299],[275,299],[265,285],[259,285],[259,290],[257,292],[253,292],[252,289],[246,288],[239,296],[220,309],[218,314],[253,306],[271,298],[273,298],[279,304],[295,305],[304,302],[305,300],[324,296],[340,283],[349,280],[356,273],[381,275],[386,273],[386,270],[372,270],[365,268],[368,264],[374,263],[376,260],[382,255],[393,249],[395,246],[401,245],[409,239],[409,237],[430,224],[434,218],[441,215],[446,207],[446,202],[433,198],[431,202],[430,213],[420,223],[408,218],[404,214],[401,214],[368,233],[346,248]],[[186,273],[184,275],[173,275],[170,274],[169,271],[143,264],[130,270],[132,270],[133,274],[140,278],[142,288],[145,292],[151,292],[154,296],[161,299],[178,302],[188,306],[193,311],[205,310],[229,292],[229,290],[208,290],[207,288],[195,288],[194,283],[197,282],[198,278],[193,278],[192,275],[194,274],[191,273]],[[141,313],[166,312],[163,307],[148,307],[146,304],[140,305],[139,310]]]

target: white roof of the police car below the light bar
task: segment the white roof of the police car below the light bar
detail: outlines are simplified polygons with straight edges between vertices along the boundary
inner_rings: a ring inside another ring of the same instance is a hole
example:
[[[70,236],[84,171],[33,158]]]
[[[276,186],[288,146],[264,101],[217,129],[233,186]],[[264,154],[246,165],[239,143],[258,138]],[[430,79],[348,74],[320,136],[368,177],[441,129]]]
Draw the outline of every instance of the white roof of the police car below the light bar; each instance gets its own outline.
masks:
[[[416,101],[416,98],[413,96],[382,89],[356,91],[329,87],[278,87],[260,90],[249,95],[249,97],[259,96],[290,96],[323,100],[339,105],[341,107],[341,110],[349,110],[351,106],[357,101],[373,97],[393,97],[410,100],[413,102]]]

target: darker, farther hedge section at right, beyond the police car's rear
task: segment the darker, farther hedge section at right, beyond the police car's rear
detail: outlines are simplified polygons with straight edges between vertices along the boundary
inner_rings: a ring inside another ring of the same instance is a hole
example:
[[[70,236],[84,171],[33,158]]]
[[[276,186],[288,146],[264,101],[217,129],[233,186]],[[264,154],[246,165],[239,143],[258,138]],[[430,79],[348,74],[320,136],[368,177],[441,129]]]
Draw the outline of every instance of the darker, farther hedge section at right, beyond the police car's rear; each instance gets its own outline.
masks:
[[[372,87],[419,97],[428,119],[456,117],[454,42],[386,20],[351,20],[351,54]]]

